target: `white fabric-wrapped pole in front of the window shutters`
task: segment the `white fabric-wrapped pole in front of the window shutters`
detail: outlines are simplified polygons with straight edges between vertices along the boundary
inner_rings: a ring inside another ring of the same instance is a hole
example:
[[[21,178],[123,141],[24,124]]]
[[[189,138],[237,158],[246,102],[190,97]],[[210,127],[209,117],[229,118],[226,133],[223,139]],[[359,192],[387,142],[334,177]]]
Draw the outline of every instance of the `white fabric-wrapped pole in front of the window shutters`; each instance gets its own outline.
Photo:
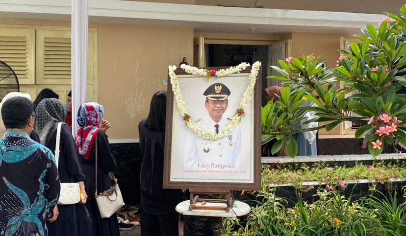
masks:
[[[88,0],[72,0],[72,134],[79,128],[76,118],[86,100]]]

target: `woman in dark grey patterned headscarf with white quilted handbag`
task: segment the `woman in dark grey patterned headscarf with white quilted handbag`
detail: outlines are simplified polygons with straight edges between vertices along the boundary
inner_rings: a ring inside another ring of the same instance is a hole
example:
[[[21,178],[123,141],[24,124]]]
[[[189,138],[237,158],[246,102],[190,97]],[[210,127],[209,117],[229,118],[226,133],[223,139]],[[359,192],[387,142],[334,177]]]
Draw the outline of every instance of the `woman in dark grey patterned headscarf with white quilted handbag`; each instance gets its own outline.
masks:
[[[62,123],[60,144],[56,145],[56,129],[59,122],[66,117],[66,105],[56,98],[45,98],[35,110],[36,122],[34,129],[40,137],[41,144],[53,153],[59,149],[58,174],[61,183],[79,183],[83,192],[81,202],[72,205],[58,205],[59,216],[55,222],[48,222],[50,236],[84,236],[91,234],[91,218],[84,205],[87,200],[84,180],[80,165],[80,155],[72,137],[69,126]]]

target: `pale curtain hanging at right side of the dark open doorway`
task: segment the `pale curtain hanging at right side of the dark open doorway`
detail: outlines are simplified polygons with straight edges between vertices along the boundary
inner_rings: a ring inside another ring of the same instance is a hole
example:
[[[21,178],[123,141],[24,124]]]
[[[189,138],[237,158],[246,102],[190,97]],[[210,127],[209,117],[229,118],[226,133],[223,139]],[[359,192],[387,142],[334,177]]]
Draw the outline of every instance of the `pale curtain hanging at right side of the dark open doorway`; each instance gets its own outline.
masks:
[[[285,59],[285,51],[286,51],[286,42],[279,42],[269,46],[268,50],[268,76],[275,75],[280,76],[280,74],[271,68],[271,66],[279,67],[279,60]],[[282,86],[282,80],[274,80],[274,79],[267,79],[266,85],[267,87],[270,86]]]

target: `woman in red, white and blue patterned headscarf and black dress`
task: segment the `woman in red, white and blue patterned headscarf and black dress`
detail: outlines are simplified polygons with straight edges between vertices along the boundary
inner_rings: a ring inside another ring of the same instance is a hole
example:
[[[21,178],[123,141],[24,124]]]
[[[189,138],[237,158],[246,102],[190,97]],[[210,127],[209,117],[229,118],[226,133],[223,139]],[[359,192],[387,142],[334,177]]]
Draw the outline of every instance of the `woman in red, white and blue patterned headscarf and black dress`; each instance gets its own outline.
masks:
[[[80,128],[76,132],[75,142],[79,149],[83,172],[86,175],[85,186],[88,192],[96,191],[95,168],[97,167],[97,191],[98,193],[110,188],[112,181],[108,172],[113,171],[117,165],[111,155],[107,136],[104,131],[110,126],[100,125],[103,123],[103,106],[96,102],[88,102],[80,105],[77,114],[77,123]],[[97,166],[96,165],[97,147]],[[101,218],[96,198],[89,195],[86,207],[92,217],[92,236],[119,236],[117,215],[109,218]]]

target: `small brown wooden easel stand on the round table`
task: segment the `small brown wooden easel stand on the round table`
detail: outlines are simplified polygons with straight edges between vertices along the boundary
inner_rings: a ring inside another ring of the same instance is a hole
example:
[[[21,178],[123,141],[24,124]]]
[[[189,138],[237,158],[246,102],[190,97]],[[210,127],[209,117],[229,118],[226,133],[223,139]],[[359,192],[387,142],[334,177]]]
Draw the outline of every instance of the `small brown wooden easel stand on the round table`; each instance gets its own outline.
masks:
[[[214,210],[229,212],[232,208],[233,198],[230,189],[189,189],[190,206],[192,210]],[[216,199],[199,198],[199,194],[218,194],[220,197]],[[225,196],[225,197],[224,197]],[[199,205],[197,203],[200,203]],[[207,203],[225,203],[226,206],[208,206]]]

